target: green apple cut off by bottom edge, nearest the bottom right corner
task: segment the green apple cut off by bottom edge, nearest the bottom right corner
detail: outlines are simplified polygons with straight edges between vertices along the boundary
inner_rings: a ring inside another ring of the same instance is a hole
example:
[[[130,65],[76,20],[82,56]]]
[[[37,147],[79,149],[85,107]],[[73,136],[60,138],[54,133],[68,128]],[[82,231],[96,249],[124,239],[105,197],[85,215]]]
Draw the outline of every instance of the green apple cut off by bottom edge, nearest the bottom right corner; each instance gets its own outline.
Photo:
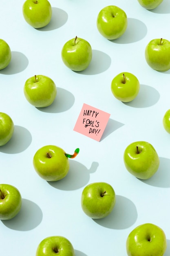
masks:
[[[126,240],[128,256],[163,256],[166,246],[164,231],[151,223],[133,229]]]

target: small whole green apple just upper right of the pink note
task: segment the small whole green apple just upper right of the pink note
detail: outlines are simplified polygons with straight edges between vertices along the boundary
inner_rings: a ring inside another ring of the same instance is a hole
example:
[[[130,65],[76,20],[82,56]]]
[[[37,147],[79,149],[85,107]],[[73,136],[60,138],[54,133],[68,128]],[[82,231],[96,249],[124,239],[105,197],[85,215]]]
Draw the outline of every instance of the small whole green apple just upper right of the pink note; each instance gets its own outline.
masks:
[[[111,91],[116,99],[122,102],[130,102],[137,97],[140,83],[136,76],[131,73],[120,73],[113,78]]]

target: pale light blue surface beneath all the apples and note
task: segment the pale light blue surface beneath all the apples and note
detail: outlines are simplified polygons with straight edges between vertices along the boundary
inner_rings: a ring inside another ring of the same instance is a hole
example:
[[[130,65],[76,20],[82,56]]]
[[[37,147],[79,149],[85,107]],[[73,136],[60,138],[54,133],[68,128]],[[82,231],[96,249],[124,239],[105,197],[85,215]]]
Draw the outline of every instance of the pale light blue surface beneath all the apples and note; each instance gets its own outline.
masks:
[[[12,51],[11,63],[0,71],[0,111],[15,124],[13,138],[0,148],[0,183],[16,186],[23,198],[18,216],[0,221],[0,254],[33,256],[42,239],[61,235],[71,241],[76,256],[124,256],[130,231],[151,222],[165,231],[169,256],[170,135],[162,118],[170,108],[170,71],[152,70],[144,50],[154,38],[170,40],[170,2],[163,0],[153,11],[137,0],[50,2],[53,17],[42,29],[25,22],[23,1],[0,3],[0,38]],[[128,28],[121,38],[109,41],[97,31],[96,18],[113,4],[126,12]],[[61,59],[62,46],[75,36],[93,49],[91,64],[80,73]],[[130,103],[118,101],[110,90],[120,72],[135,74],[141,84]],[[35,108],[24,97],[24,83],[35,74],[56,83],[57,97],[49,108]],[[73,131],[83,103],[110,113],[100,142]],[[160,157],[159,170],[144,182],[130,175],[123,162],[126,146],[139,140],[150,142]],[[33,155],[48,144],[69,154],[80,148],[59,182],[46,182],[33,169]],[[92,220],[81,209],[81,193],[99,181],[113,186],[117,202],[110,216]]]

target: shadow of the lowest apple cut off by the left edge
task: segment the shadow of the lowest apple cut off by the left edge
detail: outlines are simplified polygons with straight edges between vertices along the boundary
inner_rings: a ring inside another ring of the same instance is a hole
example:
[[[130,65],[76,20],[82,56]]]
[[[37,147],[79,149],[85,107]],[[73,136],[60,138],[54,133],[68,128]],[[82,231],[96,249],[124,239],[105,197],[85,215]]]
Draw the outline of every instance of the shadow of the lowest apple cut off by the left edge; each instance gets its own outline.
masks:
[[[1,220],[9,229],[28,231],[37,227],[42,221],[42,210],[34,202],[22,199],[20,212],[11,220]]]

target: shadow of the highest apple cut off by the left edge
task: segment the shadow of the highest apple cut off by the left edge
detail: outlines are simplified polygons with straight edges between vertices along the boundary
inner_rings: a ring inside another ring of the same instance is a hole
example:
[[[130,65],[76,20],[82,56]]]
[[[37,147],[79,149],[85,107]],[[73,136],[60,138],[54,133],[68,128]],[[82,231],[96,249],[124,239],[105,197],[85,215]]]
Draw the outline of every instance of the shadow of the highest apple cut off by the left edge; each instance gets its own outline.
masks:
[[[11,52],[11,62],[3,70],[0,70],[0,74],[12,75],[20,73],[26,69],[28,64],[28,58],[23,53]]]

